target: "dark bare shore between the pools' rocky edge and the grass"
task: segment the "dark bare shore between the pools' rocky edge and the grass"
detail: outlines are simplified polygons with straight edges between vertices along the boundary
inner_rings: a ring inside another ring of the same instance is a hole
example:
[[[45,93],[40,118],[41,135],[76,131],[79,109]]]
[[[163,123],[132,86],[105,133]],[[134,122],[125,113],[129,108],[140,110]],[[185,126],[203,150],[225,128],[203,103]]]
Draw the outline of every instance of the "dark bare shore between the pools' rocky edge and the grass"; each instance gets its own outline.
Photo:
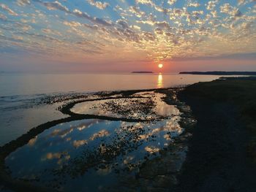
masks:
[[[186,93],[179,99],[192,107],[197,126],[175,191],[256,191],[255,168],[246,158],[248,134],[236,107]]]

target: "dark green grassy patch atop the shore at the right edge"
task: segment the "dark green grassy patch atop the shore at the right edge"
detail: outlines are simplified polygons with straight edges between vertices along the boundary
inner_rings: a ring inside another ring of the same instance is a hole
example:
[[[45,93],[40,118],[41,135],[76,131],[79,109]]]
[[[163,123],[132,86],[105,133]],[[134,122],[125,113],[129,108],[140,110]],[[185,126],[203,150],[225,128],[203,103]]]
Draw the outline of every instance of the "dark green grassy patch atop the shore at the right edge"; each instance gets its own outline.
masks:
[[[256,163],[256,78],[230,77],[227,80],[198,82],[187,87],[185,92],[192,96],[236,105],[250,135],[247,154]]]

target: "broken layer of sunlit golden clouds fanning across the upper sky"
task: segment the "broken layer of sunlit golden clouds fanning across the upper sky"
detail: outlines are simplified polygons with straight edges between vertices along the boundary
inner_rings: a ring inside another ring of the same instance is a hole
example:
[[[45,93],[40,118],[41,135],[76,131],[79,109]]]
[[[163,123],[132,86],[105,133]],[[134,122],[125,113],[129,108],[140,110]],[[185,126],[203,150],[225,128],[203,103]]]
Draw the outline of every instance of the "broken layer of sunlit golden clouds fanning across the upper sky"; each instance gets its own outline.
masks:
[[[0,4],[0,45],[56,60],[98,64],[124,64],[132,62],[131,58],[150,63],[217,57],[256,49],[256,12],[251,0],[225,4],[135,0],[119,1],[115,7],[108,2],[7,1]],[[108,12],[90,12],[89,4],[97,9],[108,7]]]

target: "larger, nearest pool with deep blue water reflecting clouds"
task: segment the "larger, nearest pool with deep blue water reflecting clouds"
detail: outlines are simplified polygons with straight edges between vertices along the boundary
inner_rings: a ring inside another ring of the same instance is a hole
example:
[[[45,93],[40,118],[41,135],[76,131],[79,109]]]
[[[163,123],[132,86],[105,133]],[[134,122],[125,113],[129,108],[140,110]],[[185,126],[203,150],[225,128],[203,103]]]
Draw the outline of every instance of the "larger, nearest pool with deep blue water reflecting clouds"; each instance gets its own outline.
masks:
[[[74,183],[80,183],[75,190],[96,191],[117,183],[120,172],[138,172],[145,157],[154,158],[181,132],[177,118],[155,123],[79,120],[39,134],[6,164],[12,177],[64,191],[73,191]]]

